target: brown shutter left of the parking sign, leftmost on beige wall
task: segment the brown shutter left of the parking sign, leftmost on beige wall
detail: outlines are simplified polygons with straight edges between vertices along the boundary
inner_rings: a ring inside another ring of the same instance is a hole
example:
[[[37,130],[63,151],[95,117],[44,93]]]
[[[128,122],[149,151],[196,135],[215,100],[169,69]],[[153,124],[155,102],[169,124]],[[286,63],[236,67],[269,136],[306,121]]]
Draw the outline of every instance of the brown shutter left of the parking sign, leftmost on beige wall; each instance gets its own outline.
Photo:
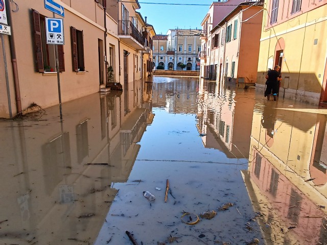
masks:
[[[34,27],[36,69],[38,72],[44,72],[39,12],[32,9],[32,17],[33,17],[33,27]]]

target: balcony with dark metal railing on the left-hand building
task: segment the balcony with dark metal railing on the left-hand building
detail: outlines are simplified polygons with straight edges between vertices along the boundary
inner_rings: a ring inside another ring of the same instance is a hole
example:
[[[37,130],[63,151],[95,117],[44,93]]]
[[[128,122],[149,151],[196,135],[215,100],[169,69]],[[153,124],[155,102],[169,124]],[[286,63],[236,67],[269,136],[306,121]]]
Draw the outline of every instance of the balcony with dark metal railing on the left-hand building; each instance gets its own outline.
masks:
[[[129,20],[119,21],[119,38],[128,45],[135,48],[135,50],[145,50],[145,39],[141,32]]]

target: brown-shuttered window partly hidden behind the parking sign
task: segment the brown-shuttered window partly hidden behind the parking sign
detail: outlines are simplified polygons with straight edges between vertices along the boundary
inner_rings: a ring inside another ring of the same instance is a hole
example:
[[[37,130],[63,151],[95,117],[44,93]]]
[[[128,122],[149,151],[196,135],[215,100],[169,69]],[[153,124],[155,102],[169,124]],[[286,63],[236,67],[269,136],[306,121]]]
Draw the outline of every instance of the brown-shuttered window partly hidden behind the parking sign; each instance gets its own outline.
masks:
[[[45,16],[40,15],[32,9],[34,27],[34,48],[36,71],[44,72],[45,68],[53,68],[55,71],[55,45],[46,44],[45,38]],[[58,45],[59,71],[65,71],[65,61],[63,55],[63,45]]]

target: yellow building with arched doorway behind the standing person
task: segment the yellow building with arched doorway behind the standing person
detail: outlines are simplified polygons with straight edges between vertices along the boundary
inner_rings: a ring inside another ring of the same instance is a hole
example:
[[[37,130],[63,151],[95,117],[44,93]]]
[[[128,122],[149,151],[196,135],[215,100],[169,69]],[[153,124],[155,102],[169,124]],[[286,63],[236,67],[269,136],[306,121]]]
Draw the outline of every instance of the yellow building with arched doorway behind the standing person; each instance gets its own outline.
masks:
[[[267,69],[281,66],[279,97],[318,104],[327,101],[325,1],[265,1],[256,87]]]

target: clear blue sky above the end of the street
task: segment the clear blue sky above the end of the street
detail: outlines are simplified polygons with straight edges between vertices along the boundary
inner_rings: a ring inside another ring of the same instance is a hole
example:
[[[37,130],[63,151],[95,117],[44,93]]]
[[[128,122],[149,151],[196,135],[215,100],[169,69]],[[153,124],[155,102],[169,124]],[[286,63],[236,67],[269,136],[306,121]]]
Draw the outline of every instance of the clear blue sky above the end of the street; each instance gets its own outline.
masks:
[[[201,29],[201,21],[209,10],[213,0],[138,0],[142,14],[152,24],[156,34],[166,34],[169,29]],[[149,4],[146,4],[149,3]],[[150,4],[153,3],[153,4]],[[162,5],[164,4],[164,5]],[[189,4],[189,5],[169,5]],[[197,6],[190,6],[197,4]],[[208,6],[198,6],[208,5]]]

